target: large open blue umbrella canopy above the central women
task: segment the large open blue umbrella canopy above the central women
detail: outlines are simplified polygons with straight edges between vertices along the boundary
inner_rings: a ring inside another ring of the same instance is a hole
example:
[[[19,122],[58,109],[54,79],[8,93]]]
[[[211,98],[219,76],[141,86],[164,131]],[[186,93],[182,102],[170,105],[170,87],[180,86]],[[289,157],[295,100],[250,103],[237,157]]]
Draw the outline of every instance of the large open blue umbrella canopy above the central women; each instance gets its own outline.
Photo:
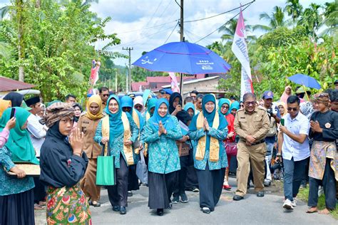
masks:
[[[231,68],[210,49],[189,42],[166,43],[145,53],[133,65],[152,71],[186,74],[227,73]]]

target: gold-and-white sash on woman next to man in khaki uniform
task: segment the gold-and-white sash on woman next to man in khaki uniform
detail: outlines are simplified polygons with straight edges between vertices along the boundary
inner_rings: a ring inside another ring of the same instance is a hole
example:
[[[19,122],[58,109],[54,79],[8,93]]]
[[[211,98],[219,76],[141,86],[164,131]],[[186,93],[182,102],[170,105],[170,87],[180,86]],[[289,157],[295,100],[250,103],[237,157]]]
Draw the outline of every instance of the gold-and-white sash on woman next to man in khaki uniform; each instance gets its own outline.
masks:
[[[212,122],[212,127],[217,129],[220,125],[220,117],[216,110],[214,121]],[[204,116],[203,112],[198,114],[196,121],[196,127],[198,130],[204,127]],[[203,136],[198,140],[198,146],[196,150],[195,158],[196,160],[203,160],[205,156],[205,144],[207,143],[207,135]],[[217,162],[220,159],[220,143],[215,137],[210,137],[210,147],[209,147],[209,159],[210,162]]]

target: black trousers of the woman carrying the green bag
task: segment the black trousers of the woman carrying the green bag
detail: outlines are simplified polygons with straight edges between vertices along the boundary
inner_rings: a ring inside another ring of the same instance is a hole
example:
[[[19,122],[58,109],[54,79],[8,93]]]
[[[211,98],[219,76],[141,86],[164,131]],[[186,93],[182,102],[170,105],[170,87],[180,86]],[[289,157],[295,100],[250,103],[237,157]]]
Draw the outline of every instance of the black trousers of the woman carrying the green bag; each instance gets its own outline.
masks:
[[[120,155],[120,168],[116,168],[116,185],[107,186],[112,206],[128,206],[128,172],[127,163]]]

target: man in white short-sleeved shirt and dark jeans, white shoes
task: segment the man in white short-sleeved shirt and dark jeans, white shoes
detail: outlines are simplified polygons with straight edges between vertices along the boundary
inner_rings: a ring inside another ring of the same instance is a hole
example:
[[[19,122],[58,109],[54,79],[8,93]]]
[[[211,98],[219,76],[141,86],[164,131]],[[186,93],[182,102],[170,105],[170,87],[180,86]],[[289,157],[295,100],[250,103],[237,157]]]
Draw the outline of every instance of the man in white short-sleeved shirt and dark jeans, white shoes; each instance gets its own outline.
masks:
[[[276,161],[284,162],[284,194],[283,208],[293,209],[302,178],[307,174],[309,159],[309,120],[299,112],[300,99],[292,95],[287,98],[287,115],[283,117],[285,124],[280,125],[278,153]],[[282,153],[282,158],[281,158]]]

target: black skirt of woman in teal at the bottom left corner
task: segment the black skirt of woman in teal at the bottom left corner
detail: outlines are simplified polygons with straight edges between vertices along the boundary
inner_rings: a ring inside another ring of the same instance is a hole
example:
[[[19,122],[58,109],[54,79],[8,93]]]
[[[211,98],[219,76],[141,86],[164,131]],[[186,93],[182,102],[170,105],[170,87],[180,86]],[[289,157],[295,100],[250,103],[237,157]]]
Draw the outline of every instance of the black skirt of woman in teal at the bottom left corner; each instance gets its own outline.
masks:
[[[19,194],[0,196],[0,224],[35,224],[33,189]]]

